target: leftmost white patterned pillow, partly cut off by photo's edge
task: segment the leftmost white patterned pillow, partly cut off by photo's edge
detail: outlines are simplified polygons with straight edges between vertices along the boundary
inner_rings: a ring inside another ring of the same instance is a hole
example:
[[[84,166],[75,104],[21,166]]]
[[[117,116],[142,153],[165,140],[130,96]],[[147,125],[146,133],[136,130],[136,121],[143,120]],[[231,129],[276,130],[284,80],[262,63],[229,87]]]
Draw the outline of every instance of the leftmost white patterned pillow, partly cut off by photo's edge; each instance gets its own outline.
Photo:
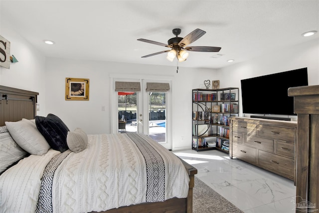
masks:
[[[0,174],[27,155],[12,139],[5,126],[0,127]]]

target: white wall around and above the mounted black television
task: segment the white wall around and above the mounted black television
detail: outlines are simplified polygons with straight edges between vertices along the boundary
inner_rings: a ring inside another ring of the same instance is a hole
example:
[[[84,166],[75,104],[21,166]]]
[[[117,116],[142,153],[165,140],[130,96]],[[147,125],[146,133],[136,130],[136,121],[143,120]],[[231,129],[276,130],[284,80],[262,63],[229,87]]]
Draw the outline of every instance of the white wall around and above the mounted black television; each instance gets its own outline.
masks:
[[[308,67],[309,85],[319,84],[319,40],[311,39],[303,44],[265,53],[262,57],[234,64],[218,71],[221,87],[239,87],[240,80]],[[287,79],[288,80],[288,79]],[[269,85],[276,86],[276,85]],[[239,92],[240,116],[242,116],[241,91]],[[249,116],[249,115],[245,115]],[[296,116],[290,116],[296,120]]]

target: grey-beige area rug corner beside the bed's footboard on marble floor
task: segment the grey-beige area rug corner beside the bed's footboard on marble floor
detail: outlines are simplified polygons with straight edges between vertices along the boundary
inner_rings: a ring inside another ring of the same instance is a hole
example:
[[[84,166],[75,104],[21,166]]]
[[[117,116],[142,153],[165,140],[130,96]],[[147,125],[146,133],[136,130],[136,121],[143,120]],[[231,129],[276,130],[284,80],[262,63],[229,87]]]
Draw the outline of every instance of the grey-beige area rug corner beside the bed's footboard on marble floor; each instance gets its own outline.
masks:
[[[193,188],[193,213],[243,213],[197,177]]]

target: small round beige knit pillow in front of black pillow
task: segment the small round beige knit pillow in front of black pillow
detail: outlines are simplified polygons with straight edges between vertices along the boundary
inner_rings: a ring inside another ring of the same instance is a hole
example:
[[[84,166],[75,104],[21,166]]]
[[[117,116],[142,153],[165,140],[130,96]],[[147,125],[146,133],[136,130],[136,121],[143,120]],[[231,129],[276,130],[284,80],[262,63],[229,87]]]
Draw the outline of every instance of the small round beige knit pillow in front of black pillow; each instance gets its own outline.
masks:
[[[73,132],[68,132],[66,143],[72,152],[82,152],[88,146],[88,136],[82,129],[76,128]]]

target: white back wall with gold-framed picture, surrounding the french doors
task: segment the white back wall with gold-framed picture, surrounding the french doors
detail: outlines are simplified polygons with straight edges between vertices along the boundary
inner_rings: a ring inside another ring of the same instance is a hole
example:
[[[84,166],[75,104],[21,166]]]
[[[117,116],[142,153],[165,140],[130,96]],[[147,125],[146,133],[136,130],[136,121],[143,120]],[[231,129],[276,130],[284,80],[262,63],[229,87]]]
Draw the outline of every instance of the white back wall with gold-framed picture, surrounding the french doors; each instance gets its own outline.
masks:
[[[111,132],[110,76],[136,75],[139,78],[172,81],[172,149],[191,148],[191,90],[204,88],[204,80],[213,79],[211,69],[154,66],[62,58],[46,59],[46,112],[59,116],[70,128],[80,127],[89,134]],[[89,101],[65,101],[65,78],[89,78]],[[151,77],[152,78],[152,77]],[[106,111],[102,111],[102,106]]]

